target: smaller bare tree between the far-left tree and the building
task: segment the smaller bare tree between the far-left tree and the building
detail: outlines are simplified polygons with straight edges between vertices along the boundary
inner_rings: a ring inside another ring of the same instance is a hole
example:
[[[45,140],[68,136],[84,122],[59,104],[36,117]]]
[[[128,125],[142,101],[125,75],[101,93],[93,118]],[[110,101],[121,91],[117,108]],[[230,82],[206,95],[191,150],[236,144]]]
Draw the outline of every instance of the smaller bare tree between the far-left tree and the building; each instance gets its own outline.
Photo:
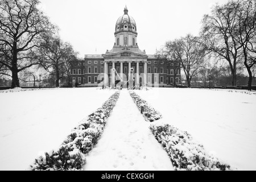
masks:
[[[40,59],[43,60],[43,67],[51,75],[55,75],[56,87],[59,87],[59,80],[64,75],[70,77],[70,61],[76,59],[77,53],[71,44],[63,42],[59,36],[46,36],[44,40],[41,44]]]

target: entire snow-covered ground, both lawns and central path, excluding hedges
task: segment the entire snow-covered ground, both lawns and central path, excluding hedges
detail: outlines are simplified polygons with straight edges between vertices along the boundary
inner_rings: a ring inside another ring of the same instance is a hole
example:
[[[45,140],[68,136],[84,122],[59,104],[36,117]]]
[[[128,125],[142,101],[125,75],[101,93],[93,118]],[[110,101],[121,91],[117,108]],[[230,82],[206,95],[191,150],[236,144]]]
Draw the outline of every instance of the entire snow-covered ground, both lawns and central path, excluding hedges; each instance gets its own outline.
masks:
[[[135,92],[163,114],[156,122],[188,131],[207,151],[238,170],[256,170],[256,95],[236,91],[152,88]],[[0,93],[0,170],[26,170],[39,154],[57,149],[73,127],[114,92],[63,88]],[[148,125],[123,89],[84,168],[171,170]]]

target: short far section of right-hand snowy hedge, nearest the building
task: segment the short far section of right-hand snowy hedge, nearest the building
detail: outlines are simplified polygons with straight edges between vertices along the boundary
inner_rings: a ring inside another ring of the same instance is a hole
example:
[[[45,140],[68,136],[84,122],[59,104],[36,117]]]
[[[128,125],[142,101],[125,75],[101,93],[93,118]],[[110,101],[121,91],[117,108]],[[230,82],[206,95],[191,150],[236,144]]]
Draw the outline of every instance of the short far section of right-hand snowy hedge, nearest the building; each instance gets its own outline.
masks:
[[[156,121],[162,118],[162,114],[152,108],[146,101],[144,101],[141,97],[139,97],[135,92],[130,91],[130,96],[133,98],[133,101],[137,105],[138,109],[141,111],[143,117],[146,121]]]

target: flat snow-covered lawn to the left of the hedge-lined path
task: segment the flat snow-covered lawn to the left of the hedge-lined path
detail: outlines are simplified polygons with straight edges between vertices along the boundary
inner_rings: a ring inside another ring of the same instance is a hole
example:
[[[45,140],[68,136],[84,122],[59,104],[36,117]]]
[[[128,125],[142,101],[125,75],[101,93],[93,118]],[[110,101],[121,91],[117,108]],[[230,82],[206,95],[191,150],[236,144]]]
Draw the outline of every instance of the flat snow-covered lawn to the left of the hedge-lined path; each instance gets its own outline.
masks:
[[[96,88],[0,93],[0,170],[26,170],[42,152],[57,149],[113,93]]]

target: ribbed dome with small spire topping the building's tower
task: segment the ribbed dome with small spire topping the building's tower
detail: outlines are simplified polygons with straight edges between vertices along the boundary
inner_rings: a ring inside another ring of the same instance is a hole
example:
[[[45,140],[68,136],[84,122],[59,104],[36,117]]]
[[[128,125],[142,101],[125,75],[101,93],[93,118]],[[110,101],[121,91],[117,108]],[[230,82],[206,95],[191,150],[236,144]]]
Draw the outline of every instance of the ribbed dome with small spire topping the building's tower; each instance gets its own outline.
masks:
[[[124,14],[120,16],[117,20],[117,23],[115,24],[115,32],[119,31],[137,31],[137,26],[135,23],[135,20],[133,17],[128,15],[128,9],[125,6],[125,9],[123,10]]]

